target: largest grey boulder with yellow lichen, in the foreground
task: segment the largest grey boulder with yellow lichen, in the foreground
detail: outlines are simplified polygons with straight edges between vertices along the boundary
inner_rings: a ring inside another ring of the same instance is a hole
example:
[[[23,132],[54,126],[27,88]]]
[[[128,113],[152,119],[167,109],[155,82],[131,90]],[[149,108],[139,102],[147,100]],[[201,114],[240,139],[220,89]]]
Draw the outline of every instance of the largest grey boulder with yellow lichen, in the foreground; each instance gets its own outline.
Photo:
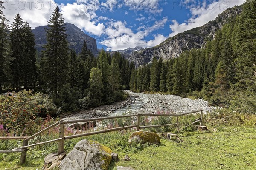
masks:
[[[60,170],[108,170],[112,150],[96,141],[81,140],[63,159]]]

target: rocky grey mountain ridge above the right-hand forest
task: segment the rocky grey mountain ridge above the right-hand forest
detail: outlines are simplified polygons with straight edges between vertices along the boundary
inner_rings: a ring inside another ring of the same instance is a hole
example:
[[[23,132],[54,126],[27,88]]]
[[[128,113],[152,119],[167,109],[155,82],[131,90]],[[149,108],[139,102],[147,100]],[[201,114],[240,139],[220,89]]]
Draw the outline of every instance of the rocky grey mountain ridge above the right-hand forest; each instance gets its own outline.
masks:
[[[207,41],[214,38],[218,29],[221,29],[225,23],[240,14],[241,11],[242,5],[228,8],[219,14],[215,20],[206,23],[204,26],[170,37],[155,47],[135,51],[128,60],[133,61],[135,66],[138,67],[151,62],[154,56],[167,60],[178,57],[185,50],[203,48]]]

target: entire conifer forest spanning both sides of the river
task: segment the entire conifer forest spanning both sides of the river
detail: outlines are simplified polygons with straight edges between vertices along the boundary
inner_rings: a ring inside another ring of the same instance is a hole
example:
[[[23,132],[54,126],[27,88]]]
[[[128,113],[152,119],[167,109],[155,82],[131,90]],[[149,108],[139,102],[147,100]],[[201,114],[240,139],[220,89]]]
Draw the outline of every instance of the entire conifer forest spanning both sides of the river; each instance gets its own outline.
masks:
[[[125,99],[124,89],[196,96],[220,106],[245,99],[256,111],[255,14],[256,0],[247,0],[242,13],[218,30],[205,48],[184,51],[168,61],[154,58],[135,69],[120,53],[111,56],[102,49],[95,58],[85,42],[78,55],[68,49],[58,7],[49,20],[47,44],[40,54],[29,23],[17,14],[9,31],[0,10],[0,92],[10,88],[41,91],[64,111],[120,101]],[[234,103],[240,107],[241,102]]]

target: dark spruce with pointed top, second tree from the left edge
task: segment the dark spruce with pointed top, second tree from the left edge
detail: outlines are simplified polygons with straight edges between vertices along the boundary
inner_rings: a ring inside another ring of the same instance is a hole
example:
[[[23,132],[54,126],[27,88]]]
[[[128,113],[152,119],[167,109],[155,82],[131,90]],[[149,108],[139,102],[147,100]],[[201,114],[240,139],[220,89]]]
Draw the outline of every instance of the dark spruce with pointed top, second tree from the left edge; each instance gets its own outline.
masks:
[[[11,39],[11,57],[12,57],[12,77],[13,88],[16,87],[16,91],[20,89],[22,85],[22,79],[24,75],[24,30],[23,21],[18,13],[15,16],[15,22],[12,23],[12,31],[10,33]]]

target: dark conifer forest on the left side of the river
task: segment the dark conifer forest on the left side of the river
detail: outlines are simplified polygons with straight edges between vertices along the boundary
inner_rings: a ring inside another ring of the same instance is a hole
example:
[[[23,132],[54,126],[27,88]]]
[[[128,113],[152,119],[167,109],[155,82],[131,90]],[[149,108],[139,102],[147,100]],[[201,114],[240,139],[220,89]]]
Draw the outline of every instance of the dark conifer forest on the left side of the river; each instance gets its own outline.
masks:
[[[8,26],[0,1],[0,93],[29,90],[52,97],[62,111],[75,111],[125,99],[134,69],[121,54],[103,49],[94,57],[86,42],[78,55],[68,48],[64,19],[57,7],[46,30],[44,51],[35,49],[29,23],[20,14]],[[9,27],[10,30],[9,31]]]

